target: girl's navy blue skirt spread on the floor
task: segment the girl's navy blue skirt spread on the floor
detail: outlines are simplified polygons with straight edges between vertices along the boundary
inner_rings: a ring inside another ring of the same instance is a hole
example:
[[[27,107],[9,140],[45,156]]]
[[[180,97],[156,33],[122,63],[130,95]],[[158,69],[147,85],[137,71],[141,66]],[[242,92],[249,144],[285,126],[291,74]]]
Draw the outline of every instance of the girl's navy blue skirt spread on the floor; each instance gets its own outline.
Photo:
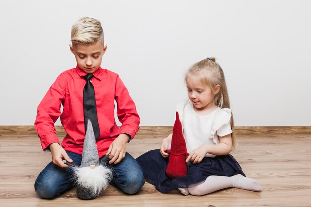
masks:
[[[187,175],[175,179],[166,176],[168,158],[163,158],[159,149],[142,154],[136,161],[143,170],[144,179],[156,186],[156,189],[161,193],[202,183],[210,175],[233,176],[241,174],[245,176],[241,166],[230,154],[214,158],[205,157],[199,164],[189,163]]]

